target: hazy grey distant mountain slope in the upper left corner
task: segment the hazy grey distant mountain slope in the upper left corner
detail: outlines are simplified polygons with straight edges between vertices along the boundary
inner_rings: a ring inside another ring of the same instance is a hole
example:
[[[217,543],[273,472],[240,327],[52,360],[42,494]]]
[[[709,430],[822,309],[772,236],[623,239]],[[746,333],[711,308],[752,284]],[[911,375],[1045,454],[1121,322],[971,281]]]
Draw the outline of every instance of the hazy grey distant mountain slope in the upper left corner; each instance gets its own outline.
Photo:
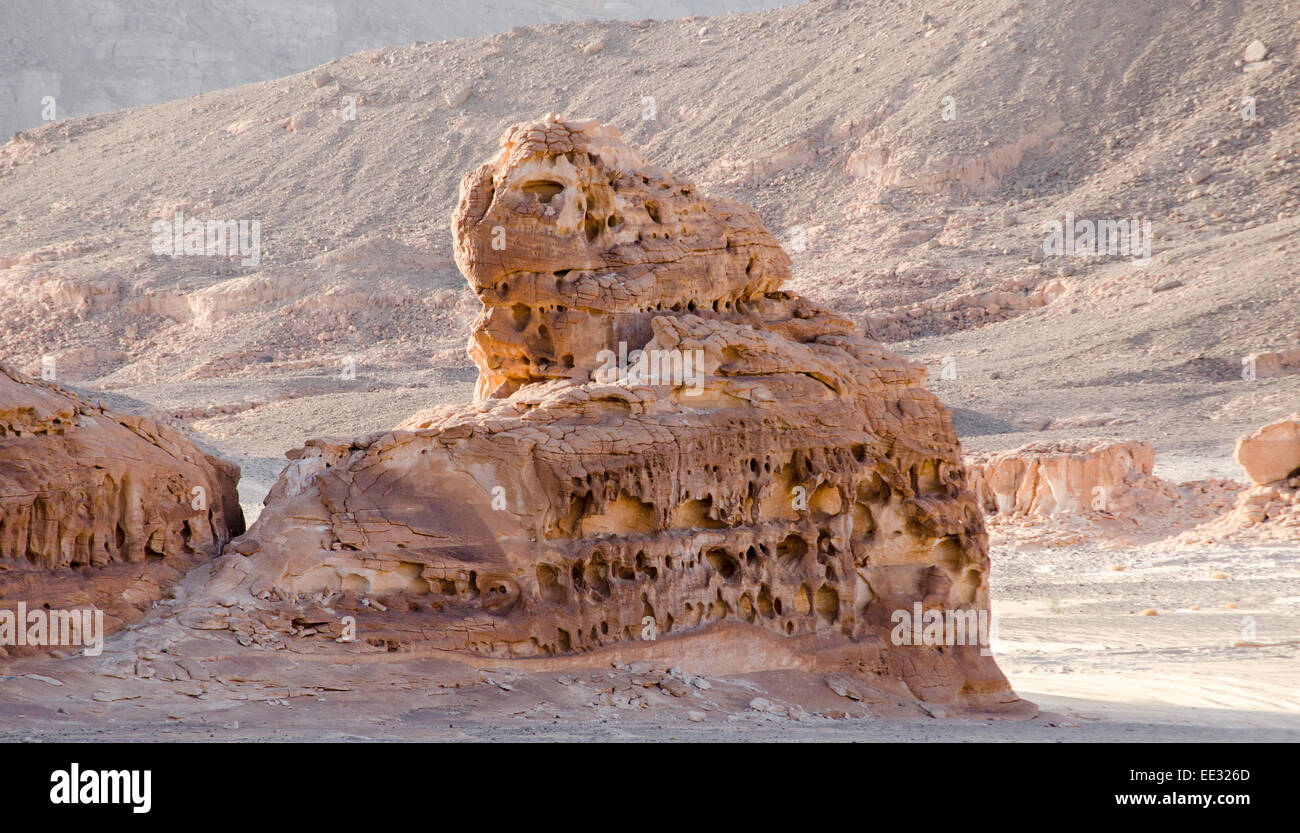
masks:
[[[387,44],[474,38],[530,23],[774,5],[774,0],[226,0],[177,6],[100,0],[62,4],[58,14],[51,14],[42,0],[13,0],[0,6],[5,42],[0,136],[52,118],[280,78]]]

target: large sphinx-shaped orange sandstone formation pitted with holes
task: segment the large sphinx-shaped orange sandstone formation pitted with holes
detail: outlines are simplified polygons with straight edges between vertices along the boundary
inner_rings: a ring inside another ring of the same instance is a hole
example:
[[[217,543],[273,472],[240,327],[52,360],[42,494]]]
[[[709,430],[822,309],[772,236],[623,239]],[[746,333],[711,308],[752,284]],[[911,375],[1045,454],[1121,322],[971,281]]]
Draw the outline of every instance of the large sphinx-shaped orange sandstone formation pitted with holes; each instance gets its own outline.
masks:
[[[978,645],[890,641],[914,604],[988,611],[983,519],[923,369],[783,291],[755,212],[555,116],[460,194],[474,402],[292,452],[214,594],[469,663],[802,668],[1032,708]]]

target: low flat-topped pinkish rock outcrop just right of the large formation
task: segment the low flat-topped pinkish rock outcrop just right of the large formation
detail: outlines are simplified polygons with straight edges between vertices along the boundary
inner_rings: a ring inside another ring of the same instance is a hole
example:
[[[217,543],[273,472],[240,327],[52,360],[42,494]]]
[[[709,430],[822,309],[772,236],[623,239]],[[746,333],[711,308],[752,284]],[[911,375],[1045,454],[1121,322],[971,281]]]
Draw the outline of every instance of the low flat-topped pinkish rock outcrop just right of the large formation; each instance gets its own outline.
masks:
[[[1106,511],[1132,476],[1149,476],[1156,451],[1130,441],[1030,443],[966,455],[971,489],[988,513]]]

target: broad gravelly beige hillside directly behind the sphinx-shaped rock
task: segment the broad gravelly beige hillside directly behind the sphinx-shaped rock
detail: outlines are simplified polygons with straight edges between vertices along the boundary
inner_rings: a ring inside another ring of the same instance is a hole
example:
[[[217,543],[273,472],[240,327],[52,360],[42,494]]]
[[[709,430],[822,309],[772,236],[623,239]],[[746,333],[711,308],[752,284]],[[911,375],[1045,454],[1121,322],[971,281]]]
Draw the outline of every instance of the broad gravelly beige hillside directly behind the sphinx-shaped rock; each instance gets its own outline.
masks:
[[[931,365],[968,447],[1083,430],[1235,476],[1234,438],[1300,398],[1296,365],[1248,359],[1300,340],[1297,39],[1265,0],[838,0],[58,121],[0,148],[0,355],[176,418],[260,496],[307,437],[469,398],[458,182],[555,112],[754,205],[792,288]],[[259,256],[155,253],[178,212],[256,221]],[[1044,253],[1067,216],[1149,221],[1149,263]]]

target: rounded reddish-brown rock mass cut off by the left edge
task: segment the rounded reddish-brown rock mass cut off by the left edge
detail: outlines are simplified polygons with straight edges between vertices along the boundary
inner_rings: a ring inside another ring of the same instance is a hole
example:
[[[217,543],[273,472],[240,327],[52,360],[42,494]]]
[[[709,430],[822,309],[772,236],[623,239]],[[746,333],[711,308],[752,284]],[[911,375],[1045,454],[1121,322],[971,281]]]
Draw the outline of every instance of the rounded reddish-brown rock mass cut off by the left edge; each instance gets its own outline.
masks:
[[[243,532],[238,481],[170,428],[0,365],[0,608],[139,619]]]

